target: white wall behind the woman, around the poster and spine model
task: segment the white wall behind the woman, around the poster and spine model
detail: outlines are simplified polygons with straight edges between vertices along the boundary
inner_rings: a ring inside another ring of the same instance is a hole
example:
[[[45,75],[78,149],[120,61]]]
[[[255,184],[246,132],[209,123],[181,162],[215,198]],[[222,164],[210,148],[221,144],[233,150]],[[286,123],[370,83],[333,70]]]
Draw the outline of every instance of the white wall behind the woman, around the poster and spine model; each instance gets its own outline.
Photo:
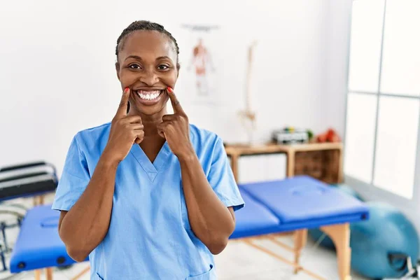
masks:
[[[335,99],[337,109],[325,102],[332,95],[328,67],[335,68],[329,33],[340,33],[328,27],[335,17],[329,5],[328,0],[3,2],[0,166],[47,160],[61,172],[73,134],[111,120],[121,92],[114,69],[116,39],[134,20],[165,25],[179,41],[181,63],[188,48],[181,24],[222,27],[222,106],[190,104],[182,71],[176,92],[191,122],[225,141],[246,140],[237,111],[244,103],[246,51],[254,38],[259,41],[252,81],[258,140],[268,140],[272,130],[286,125],[316,133],[340,125],[342,97]],[[334,57],[341,59],[343,52]],[[337,68],[341,71],[342,60]]]

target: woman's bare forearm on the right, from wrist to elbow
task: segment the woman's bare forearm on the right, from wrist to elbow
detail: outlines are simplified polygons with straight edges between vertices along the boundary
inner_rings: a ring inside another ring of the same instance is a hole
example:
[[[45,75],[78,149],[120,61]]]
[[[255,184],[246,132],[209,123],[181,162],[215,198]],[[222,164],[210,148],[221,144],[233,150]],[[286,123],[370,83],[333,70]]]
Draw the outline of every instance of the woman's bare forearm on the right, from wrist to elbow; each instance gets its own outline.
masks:
[[[191,229],[211,253],[221,253],[235,230],[234,218],[211,188],[197,155],[179,162]]]

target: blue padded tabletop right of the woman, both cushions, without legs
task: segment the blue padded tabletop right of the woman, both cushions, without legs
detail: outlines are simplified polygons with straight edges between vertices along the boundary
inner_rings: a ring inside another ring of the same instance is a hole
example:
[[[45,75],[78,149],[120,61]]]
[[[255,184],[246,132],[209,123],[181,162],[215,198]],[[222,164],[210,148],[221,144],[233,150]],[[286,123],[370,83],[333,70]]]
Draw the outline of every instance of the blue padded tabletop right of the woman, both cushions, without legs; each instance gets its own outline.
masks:
[[[240,184],[239,190],[246,194],[245,207],[235,212],[237,224],[231,238],[352,223],[366,219],[369,214],[363,202],[309,176]],[[276,228],[258,231],[252,224],[248,225],[260,215],[261,207],[279,219]]]

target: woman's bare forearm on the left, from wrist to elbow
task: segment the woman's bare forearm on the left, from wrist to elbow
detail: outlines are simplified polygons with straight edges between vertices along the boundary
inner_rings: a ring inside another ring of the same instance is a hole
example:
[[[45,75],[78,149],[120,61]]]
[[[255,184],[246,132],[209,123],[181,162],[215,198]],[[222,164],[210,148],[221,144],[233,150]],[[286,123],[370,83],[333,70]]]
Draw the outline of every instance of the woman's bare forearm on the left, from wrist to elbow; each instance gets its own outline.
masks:
[[[108,232],[117,167],[118,162],[102,155],[83,194],[62,214],[59,236],[76,261],[85,260]]]

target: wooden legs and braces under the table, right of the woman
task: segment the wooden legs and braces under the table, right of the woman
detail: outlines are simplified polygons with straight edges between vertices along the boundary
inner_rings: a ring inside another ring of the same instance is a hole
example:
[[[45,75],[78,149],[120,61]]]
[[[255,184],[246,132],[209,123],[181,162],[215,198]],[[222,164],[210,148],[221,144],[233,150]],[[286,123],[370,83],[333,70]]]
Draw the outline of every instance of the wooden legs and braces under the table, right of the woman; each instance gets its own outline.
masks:
[[[338,265],[338,274],[340,280],[351,280],[350,276],[350,262],[351,262],[351,249],[350,249],[350,226],[349,223],[343,223],[338,225],[326,225],[320,228],[326,235],[332,239],[335,244],[335,250],[337,252],[337,265]],[[294,243],[295,246],[292,248],[287,244],[283,244],[281,241],[278,241],[275,237],[279,237],[279,234],[271,234],[271,235],[260,235],[258,237],[245,237],[240,239],[234,239],[236,241],[244,242],[245,244],[252,246],[264,253],[271,255],[272,257],[285,262],[288,265],[294,267],[294,273],[297,272],[304,272],[309,276],[314,277],[314,279],[318,280],[326,280],[322,276],[311,272],[307,269],[304,269],[302,265],[299,263],[300,259],[300,252],[302,248],[307,244],[307,229],[303,230],[295,230],[294,232]],[[281,234],[280,234],[281,235]],[[288,251],[291,251],[295,255],[295,260],[291,261],[288,260],[281,255],[277,255],[276,253],[269,251],[267,248],[264,248],[258,244],[255,244],[253,240],[255,239],[268,239],[272,241],[274,244],[285,248]]]

